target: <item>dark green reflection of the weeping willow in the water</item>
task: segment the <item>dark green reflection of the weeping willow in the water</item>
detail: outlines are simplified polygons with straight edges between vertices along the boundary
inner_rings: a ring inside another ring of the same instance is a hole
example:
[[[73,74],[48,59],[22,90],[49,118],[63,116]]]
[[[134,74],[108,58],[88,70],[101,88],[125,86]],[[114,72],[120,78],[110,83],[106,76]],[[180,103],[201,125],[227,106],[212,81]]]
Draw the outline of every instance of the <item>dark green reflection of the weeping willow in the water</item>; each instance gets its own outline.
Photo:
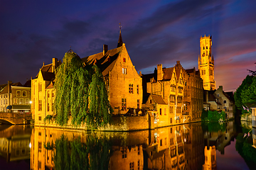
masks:
[[[110,162],[111,145],[105,137],[80,137],[73,141],[62,135],[55,141],[55,169],[106,169]]]

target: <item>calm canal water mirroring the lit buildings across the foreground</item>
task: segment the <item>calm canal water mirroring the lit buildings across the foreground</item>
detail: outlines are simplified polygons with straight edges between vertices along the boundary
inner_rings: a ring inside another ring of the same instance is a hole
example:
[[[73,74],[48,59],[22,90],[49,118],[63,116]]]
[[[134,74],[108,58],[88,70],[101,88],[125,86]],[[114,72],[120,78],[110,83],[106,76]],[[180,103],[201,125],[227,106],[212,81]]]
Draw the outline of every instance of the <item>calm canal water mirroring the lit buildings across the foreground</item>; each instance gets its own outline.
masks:
[[[256,169],[252,136],[234,121],[136,132],[0,125],[0,169]]]

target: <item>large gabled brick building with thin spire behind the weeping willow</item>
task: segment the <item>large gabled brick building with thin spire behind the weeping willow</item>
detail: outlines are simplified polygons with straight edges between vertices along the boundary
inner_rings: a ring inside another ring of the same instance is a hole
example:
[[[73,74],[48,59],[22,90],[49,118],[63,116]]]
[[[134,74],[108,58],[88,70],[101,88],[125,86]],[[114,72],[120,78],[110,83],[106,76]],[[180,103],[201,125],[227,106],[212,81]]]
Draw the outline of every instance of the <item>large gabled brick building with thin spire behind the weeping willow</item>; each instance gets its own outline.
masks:
[[[142,77],[132,64],[121,32],[117,48],[108,50],[107,45],[103,45],[102,52],[84,57],[82,62],[97,64],[101,69],[114,114],[125,114],[129,108],[142,108]],[[55,69],[60,64],[60,60],[53,58],[53,63],[43,64],[36,78],[31,81],[35,124],[43,123],[46,115],[53,114]]]

